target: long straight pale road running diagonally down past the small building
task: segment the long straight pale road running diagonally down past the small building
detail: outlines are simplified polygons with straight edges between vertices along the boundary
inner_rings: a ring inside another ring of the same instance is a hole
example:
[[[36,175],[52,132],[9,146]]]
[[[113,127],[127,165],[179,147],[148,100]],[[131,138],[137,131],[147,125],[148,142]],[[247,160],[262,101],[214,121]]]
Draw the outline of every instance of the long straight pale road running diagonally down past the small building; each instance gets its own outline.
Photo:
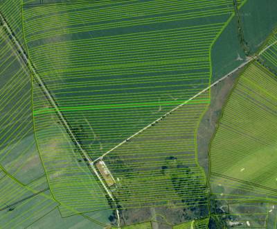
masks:
[[[87,161],[89,162],[89,166],[91,167],[91,170],[96,174],[96,176],[100,180],[100,183],[102,184],[105,191],[109,195],[109,198],[111,198],[111,200],[114,203],[116,203],[116,201],[114,200],[114,197],[112,196],[111,192],[109,191],[109,189],[107,189],[105,183],[102,181],[102,179],[100,178],[98,172],[96,171],[96,168],[94,167],[93,161],[91,160],[91,158],[89,158],[89,155],[87,154],[87,152],[84,151],[84,149],[82,149],[82,146],[80,145],[80,143],[76,139],[75,135],[71,131],[71,128],[70,128],[69,124],[67,124],[66,119],[64,119],[64,116],[63,116],[62,112],[60,112],[57,104],[55,103],[55,100],[53,99],[53,96],[50,94],[50,92],[48,92],[48,89],[46,88],[46,85],[44,85],[44,82],[42,81],[40,76],[37,74],[37,71],[35,70],[35,67],[33,66],[32,62],[30,62],[28,57],[26,56],[26,53],[25,53],[24,49],[22,49],[21,44],[19,44],[19,42],[17,41],[17,38],[15,37],[14,33],[12,33],[10,27],[8,26],[8,24],[6,22],[6,19],[3,17],[1,12],[0,12],[0,21],[3,25],[3,27],[6,28],[6,32],[10,35],[12,42],[15,43],[15,45],[17,46],[17,49],[21,52],[21,57],[24,59],[24,62],[26,62],[27,67],[32,72],[33,76],[35,77],[35,80],[37,80],[37,83],[39,84],[39,86],[43,90],[43,92],[45,93],[48,101],[51,103],[51,105],[53,105],[53,108],[55,108],[55,112],[57,113],[58,117],[60,118],[60,121],[62,121],[62,124],[66,128],[66,131],[69,133],[69,135],[71,135],[71,139],[73,139],[73,142],[74,142],[75,146],[78,147],[78,149],[80,150],[82,155],[84,155],[84,158],[86,158]],[[118,212],[117,208],[116,208],[116,216],[118,218],[118,228],[120,228],[120,217],[119,217],[119,212]]]

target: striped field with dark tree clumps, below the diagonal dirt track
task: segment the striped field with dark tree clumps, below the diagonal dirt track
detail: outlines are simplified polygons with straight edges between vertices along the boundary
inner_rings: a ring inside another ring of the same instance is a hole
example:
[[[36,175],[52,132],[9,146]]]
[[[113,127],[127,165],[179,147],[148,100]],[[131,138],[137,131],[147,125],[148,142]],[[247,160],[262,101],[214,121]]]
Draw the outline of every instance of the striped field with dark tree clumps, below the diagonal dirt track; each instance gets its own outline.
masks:
[[[123,209],[186,206],[191,217],[189,209],[198,206],[202,210],[195,214],[207,213],[206,177],[195,152],[195,128],[205,109],[191,101],[103,158]]]

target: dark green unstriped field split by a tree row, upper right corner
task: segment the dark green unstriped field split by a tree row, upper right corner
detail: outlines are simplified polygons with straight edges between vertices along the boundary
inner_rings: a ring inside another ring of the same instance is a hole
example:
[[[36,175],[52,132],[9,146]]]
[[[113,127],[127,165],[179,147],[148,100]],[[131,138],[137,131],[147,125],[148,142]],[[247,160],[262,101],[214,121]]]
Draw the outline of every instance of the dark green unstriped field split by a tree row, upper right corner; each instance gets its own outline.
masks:
[[[240,4],[238,15],[231,19],[213,45],[212,82],[239,67],[249,59],[249,56],[253,56],[262,49],[262,44],[277,26],[276,7],[277,3],[274,0],[268,0],[266,4],[265,1],[259,0],[244,1]],[[238,39],[238,17],[244,42],[249,49],[248,55],[244,51],[244,45]]]

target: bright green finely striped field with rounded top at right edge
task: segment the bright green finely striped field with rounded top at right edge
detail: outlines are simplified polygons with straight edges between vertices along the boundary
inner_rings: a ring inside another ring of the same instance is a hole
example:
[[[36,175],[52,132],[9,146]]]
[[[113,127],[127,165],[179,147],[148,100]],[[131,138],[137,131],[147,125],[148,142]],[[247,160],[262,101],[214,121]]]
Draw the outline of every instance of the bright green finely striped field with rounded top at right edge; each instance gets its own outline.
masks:
[[[277,189],[274,74],[253,63],[240,76],[211,143],[211,174]]]

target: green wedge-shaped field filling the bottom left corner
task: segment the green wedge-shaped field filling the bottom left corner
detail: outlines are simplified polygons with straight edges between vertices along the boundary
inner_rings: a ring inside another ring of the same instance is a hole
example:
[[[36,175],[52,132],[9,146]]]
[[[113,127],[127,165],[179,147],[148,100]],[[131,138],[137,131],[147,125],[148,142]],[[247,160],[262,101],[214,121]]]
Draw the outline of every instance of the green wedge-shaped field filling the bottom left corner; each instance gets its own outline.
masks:
[[[0,187],[1,228],[26,228],[58,204],[47,192],[38,194],[8,173],[0,179]]]

